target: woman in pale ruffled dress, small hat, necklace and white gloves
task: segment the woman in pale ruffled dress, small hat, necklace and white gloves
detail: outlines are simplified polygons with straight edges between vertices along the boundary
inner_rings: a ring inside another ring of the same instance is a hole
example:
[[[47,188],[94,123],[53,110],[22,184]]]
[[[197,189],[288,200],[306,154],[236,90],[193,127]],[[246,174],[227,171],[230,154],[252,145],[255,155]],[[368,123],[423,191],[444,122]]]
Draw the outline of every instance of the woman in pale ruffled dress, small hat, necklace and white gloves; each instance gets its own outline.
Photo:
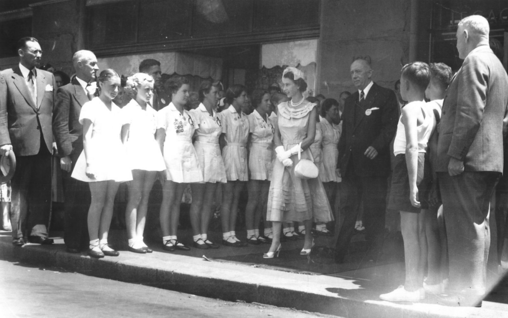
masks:
[[[295,174],[295,166],[300,161],[298,153],[301,159],[313,159],[309,147],[316,132],[316,104],[302,95],[307,88],[303,77],[295,67],[287,67],[282,74],[284,93],[291,100],[278,105],[278,123],[273,136],[277,160],[273,166],[267,211],[267,220],[273,225],[273,240],[264,258],[278,256],[282,222],[304,223],[305,241],[300,254],[309,255],[313,246],[312,218],[316,222],[333,220],[319,176],[306,180]]]

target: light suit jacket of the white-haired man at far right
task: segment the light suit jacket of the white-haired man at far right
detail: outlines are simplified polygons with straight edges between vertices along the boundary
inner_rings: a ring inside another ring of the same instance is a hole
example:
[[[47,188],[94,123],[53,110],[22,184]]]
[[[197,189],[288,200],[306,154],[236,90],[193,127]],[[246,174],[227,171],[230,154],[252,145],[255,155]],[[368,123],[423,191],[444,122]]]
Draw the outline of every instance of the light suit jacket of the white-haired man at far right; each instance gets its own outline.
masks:
[[[448,172],[450,158],[464,171],[503,171],[503,119],[508,76],[489,46],[471,51],[444,97],[436,171]]]

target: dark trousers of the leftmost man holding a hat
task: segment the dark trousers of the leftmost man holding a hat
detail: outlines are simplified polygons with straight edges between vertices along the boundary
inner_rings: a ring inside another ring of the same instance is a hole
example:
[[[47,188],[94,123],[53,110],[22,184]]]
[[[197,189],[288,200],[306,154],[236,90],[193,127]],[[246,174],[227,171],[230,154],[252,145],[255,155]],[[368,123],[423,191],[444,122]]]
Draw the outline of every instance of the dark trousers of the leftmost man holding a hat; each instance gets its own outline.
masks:
[[[41,143],[37,155],[16,157],[11,180],[12,237],[30,235],[31,229],[49,223],[51,208],[51,154]]]

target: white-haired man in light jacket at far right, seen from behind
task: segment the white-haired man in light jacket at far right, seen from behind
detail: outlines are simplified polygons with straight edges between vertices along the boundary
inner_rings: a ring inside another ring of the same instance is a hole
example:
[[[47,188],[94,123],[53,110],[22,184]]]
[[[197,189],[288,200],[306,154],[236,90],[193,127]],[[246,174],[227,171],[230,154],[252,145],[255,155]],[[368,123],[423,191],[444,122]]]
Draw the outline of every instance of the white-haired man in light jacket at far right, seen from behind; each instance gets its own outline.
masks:
[[[464,59],[444,97],[438,126],[438,179],[450,258],[450,294],[444,302],[481,305],[489,254],[489,204],[503,171],[503,118],[508,76],[489,47],[482,16],[459,22]]]

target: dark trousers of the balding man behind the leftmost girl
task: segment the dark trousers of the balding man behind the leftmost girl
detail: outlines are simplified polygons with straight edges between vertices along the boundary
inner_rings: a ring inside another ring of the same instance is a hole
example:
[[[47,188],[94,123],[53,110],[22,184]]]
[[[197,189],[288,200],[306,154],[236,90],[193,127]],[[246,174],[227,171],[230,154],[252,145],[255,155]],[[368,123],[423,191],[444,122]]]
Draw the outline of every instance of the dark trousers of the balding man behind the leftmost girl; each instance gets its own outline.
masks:
[[[81,151],[71,154],[72,169]],[[71,172],[62,171],[63,192],[65,195],[63,241],[68,248],[79,249],[88,246],[87,216],[90,206],[88,183],[71,178]]]

